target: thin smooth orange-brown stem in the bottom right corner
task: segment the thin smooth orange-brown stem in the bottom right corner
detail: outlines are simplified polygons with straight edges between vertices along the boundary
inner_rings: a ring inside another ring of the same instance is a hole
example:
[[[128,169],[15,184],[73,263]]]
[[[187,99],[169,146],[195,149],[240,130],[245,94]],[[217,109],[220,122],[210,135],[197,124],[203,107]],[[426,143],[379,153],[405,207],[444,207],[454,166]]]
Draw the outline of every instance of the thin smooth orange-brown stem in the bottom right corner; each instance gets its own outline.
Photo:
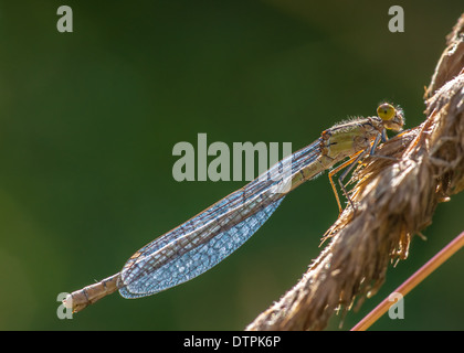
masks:
[[[464,232],[456,236],[450,244],[447,244],[440,253],[433,256],[424,266],[418,269],[414,275],[408,278],[400,287],[393,292],[400,293],[401,296],[408,295],[414,287],[416,287],[422,280],[429,277],[436,268],[439,268],[444,261],[451,256],[457,253],[464,247]],[[380,304],[378,304],[371,312],[369,312],[361,321],[359,321],[351,331],[366,331],[372,323],[380,319],[387,310],[390,308],[392,302],[389,298],[386,298]]]

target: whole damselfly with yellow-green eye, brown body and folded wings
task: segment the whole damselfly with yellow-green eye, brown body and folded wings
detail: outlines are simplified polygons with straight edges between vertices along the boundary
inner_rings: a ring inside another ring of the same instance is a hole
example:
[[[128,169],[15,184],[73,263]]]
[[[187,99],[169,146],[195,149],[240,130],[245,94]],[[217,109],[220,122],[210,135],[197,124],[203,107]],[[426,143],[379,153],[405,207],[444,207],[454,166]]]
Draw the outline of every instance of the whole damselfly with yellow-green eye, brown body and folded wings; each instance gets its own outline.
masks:
[[[124,298],[150,296],[203,274],[245,243],[287,193],[349,158],[328,173],[341,212],[333,176],[345,168],[338,183],[351,203],[344,178],[363,157],[377,156],[377,146],[387,140],[386,130],[400,131],[403,125],[402,110],[382,104],[377,116],[355,118],[323,131],[312,145],[140,248],[120,272],[68,295],[65,306],[76,312],[116,290]],[[278,178],[285,165],[289,173]]]

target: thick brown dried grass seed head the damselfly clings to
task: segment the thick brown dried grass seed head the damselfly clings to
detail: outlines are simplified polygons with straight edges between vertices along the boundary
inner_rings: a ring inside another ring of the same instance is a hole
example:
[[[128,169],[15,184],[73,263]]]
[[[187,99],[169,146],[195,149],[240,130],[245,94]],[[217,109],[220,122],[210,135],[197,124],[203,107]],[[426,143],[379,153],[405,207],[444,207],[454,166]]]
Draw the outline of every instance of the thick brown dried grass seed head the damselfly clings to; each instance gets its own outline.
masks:
[[[455,47],[463,28],[464,17],[453,31]],[[454,53],[460,65],[462,55]],[[426,101],[426,120],[379,149],[399,161],[371,159],[356,172],[356,212],[348,207],[340,215],[299,282],[247,330],[324,329],[337,308],[349,310],[373,295],[389,265],[408,256],[411,236],[432,222],[436,205],[464,189],[464,74],[453,78],[453,55],[449,49],[443,55],[446,65],[437,65],[432,85],[436,89],[435,77],[446,84]]]

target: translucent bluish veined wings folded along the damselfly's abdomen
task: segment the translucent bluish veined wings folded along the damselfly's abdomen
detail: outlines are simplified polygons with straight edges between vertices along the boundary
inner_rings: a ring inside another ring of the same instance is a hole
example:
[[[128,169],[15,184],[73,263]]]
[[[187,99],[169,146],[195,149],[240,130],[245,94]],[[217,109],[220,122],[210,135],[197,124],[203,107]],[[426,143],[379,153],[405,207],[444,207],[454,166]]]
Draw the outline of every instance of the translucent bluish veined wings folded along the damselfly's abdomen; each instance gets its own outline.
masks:
[[[150,296],[192,279],[245,243],[282,203],[278,185],[320,153],[318,139],[193,218],[147,244],[122,270],[125,298]],[[286,168],[291,173],[285,174]]]

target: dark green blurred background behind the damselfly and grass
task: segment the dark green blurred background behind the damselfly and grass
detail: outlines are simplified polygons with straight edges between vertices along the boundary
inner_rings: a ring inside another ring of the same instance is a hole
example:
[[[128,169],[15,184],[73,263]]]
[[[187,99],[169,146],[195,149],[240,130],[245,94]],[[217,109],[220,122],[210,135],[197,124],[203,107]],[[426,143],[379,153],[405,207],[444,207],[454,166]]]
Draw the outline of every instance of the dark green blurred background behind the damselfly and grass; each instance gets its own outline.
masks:
[[[56,31],[73,9],[74,32]],[[388,31],[400,4],[405,32]],[[337,217],[326,176],[282,204],[240,250],[159,295],[117,293],[59,320],[56,297],[120,270],[152,238],[244,182],[176,182],[172,147],[292,142],[423,92],[462,1],[0,1],[0,329],[241,330],[291,288]],[[410,257],[349,329],[464,229],[440,205]],[[463,330],[461,252],[372,330]],[[335,317],[329,329],[338,330]]]

